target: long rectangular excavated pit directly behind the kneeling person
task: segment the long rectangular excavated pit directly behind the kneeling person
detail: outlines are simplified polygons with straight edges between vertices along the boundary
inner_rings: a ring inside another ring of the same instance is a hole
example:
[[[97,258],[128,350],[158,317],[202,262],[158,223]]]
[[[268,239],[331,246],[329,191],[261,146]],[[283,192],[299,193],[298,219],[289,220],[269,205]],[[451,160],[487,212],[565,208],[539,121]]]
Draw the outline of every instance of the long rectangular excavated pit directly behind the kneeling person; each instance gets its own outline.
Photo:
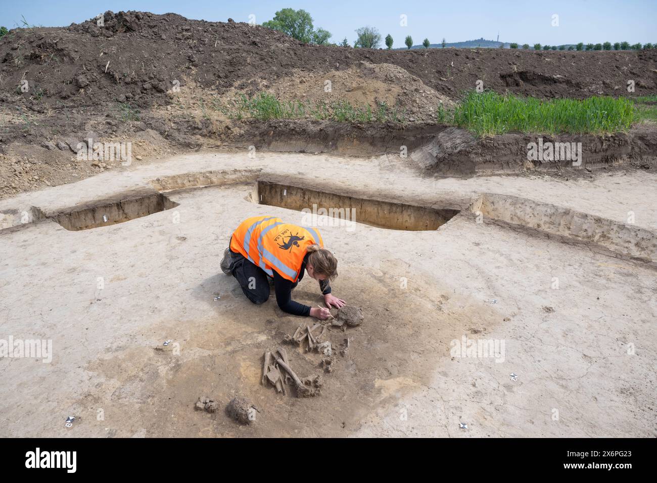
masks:
[[[269,181],[258,181],[254,196],[259,204],[393,230],[436,230],[459,214],[459,210],[357,198]]]

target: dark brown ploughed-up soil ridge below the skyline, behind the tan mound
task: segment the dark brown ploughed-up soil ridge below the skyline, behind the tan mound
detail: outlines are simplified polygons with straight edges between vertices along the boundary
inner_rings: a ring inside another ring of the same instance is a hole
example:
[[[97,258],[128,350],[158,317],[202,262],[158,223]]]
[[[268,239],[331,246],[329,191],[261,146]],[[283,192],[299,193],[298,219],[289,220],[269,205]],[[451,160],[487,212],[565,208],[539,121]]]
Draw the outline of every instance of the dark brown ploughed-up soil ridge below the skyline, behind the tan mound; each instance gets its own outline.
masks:
[[[657,88],[655,50],[319,47],[261,26],[148,12],[106,12],[103,24],[99,27],[91,19],[66,28],[16,29],[3,37],[0,72],[5,102],[25,97],[15,89],[27,79],[42,93],[37,104],[44,109],[124,99],[144,107],[168,103],[164,93],[183,78],[222,93],[232,87],[258,87],[258,81],[275,83],[295,71],[349,70],[362,61],[398,66],[447,97],[472,89],[476,80],[496,91],[538,97],[622,95],[628,80],[635,81],[637,95]],[[30,94],[35,95],[32,89]]]

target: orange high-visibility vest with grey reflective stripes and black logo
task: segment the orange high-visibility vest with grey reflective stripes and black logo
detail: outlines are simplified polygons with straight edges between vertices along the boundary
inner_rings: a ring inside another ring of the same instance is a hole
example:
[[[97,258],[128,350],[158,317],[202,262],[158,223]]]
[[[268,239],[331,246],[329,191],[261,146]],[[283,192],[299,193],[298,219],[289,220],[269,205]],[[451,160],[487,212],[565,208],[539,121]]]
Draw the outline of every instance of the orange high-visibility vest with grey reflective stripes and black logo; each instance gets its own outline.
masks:
[[[240,252],[270,277],[276,270],[284,279],[296,282],[306,247],[313,243],[324,248],[317,229],[283,223],[273,216],[254,216],[233,232],[231,250]]]

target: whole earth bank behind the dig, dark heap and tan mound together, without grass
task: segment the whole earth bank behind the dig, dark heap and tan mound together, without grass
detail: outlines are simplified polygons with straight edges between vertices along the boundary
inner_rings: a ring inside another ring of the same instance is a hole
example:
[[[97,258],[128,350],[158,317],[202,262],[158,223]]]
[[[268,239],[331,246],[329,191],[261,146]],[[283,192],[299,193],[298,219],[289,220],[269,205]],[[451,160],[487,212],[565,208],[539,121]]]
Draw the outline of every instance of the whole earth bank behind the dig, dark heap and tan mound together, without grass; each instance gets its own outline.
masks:
[[[65,28],[16,29],[0,39],[0,197],[120,168],[117,160],[76,159],[75,146],[89,133],[93,141],[132,143],[134,164],[225,145],[398,153],[401,146],[432,143],[445,129],[435,123],[438,106],[451,105],[477,80],[498,92],[543,98],[627,95],[627,80],[635,81],[634,95],[657,92],[655,50],[319,47],[260,26],[148,12],[106,12],[102,24],[92,19]],[[229,118],[217,108],[237,93],[260,91],[308,103],[385,103],[403,112],[404,122],[256,122]],[[620,148],[600,150],[600,163],[595,158],[591,166],[641,161],[656,133],[618,139],[594,141]],[[447,146],[429,172],[480,173],[486,170],[476,166],[495,163],[524,169],[518,162],[523,149],[520,135],[468,141],[456,151]]]

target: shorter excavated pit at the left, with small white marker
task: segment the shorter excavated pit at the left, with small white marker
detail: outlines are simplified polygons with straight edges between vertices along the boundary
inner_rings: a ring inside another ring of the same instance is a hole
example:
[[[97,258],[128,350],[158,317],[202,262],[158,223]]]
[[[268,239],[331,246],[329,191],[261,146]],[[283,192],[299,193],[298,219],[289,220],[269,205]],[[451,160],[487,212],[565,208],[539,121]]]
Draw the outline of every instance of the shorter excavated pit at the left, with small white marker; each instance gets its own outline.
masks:
[[[133,195],[120,200],[105,200],[78,206],[68,212],[47,214],[45,218],[54,219],[62,227],[70,231],[88,230],[124,223],[135,218],[152,215],[170,210],[178,206],[161,193],[148,195]]]

